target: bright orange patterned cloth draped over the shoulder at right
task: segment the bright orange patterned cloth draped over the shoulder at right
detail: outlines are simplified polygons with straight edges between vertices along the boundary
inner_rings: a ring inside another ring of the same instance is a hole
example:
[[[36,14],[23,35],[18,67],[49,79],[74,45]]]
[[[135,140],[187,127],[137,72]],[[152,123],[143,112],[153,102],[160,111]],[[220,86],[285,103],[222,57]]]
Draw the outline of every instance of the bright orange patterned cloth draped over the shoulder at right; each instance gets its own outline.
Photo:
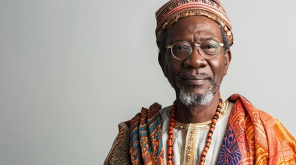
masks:
[[[230,96],[228,100],[235,103],[228,121],[228,133],[231,129],[233,141],[236,141],[241,155],[237,163],[296,164],[295,137],[288,133],[279,120],[257,109],[238,94]],[[228,133],[224,142],[229,139]],[[235,150],[223,153],[225,144],[221,146],[217,163],[221,157],[235,153]]]

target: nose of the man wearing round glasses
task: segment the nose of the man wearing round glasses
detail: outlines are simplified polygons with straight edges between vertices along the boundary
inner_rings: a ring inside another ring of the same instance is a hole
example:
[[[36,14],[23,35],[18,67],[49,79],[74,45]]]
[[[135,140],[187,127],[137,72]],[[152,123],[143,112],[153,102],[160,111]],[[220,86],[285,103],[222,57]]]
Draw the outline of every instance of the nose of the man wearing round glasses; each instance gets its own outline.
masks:
[[[201,56],[199,50],[200,47],[193,47],[193,52],[186,58],[184,61],[184,67],[193,67],[193,68],[198,68],[198,67],[206,67],[208,62],[206,59]]]

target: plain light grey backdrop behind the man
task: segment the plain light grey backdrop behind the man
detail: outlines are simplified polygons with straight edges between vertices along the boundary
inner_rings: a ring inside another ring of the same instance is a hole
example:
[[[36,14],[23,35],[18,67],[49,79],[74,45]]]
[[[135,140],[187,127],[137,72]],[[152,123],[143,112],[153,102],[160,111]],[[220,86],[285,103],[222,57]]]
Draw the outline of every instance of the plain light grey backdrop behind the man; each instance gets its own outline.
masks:
[[[0,164],[103,164],[117,124],[175,94],[157,62],[166,1],[0,0]],[[296,136],[296,1],[222,1],[233,60],[221,86]]]

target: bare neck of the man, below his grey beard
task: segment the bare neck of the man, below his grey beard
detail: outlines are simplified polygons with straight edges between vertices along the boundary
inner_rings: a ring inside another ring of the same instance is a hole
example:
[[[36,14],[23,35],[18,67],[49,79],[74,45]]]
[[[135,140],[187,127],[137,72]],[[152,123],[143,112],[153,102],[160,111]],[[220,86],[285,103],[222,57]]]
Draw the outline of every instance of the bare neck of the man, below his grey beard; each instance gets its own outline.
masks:
[[[192,105],[187,107],[177,99],[176,120],[183,123],[199,123],[211,120],[215,115],[219,103],[219,91],[207,105]]]

